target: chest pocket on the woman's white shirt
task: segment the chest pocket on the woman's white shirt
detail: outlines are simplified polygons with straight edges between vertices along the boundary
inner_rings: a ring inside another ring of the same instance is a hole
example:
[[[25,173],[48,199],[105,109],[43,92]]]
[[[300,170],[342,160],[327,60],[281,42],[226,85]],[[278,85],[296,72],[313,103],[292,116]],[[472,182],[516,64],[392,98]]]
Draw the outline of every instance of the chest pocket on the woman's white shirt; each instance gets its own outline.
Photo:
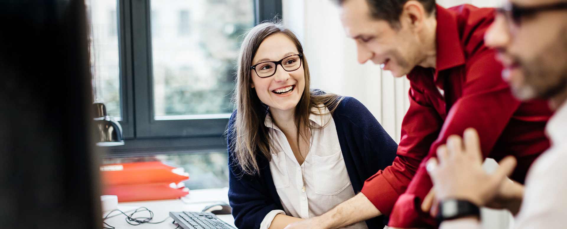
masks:
[[[334,196],[350,185],[341,151],[329,156],[313,155],[312,159],[315,193]]]

